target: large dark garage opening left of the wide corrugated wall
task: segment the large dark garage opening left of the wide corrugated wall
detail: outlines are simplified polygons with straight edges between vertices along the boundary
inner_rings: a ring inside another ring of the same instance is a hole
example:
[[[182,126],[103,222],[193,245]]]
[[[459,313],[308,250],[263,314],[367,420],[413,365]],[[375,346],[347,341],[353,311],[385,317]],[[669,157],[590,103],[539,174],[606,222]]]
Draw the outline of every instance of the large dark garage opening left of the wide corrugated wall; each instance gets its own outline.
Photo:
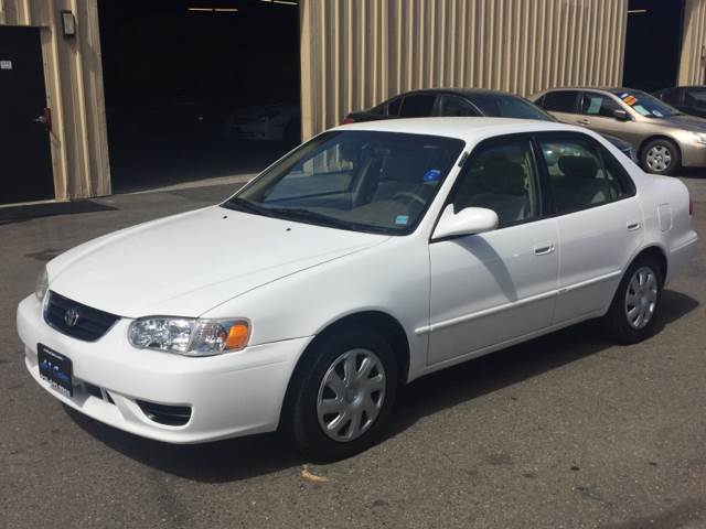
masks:
[[[252,174],[300,141],[290,0],[100,0],[114,192]]]

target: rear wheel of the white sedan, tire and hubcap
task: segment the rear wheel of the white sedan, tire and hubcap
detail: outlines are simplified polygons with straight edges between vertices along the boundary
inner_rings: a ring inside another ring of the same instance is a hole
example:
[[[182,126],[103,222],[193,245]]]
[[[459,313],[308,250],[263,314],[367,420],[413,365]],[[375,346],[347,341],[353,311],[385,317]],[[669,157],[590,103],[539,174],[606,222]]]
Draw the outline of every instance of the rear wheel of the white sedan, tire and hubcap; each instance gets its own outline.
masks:
[[[641,276],[644,278],[643,287],[635,284],[635,281],[641,282]],[[618,285],[608,314],[603,316],[608,333],[618,343],[637,344],[652,335],[663,285],[662,269],[653,257],[642,256],[630,264]],[[640,315],[643,315],[642,320]]]

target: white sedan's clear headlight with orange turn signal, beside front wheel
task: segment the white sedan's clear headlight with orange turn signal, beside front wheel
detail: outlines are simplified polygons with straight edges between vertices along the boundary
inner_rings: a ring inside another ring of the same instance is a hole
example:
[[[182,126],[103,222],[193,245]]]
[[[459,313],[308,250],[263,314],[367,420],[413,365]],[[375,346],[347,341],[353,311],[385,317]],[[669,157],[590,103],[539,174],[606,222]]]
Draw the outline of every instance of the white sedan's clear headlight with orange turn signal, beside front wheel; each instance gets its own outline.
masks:
[[[195,320],[150,316],[133,321],[128,339],[139,349],[185,356],[211,356],[239,350],[250,337],[247,320]]]

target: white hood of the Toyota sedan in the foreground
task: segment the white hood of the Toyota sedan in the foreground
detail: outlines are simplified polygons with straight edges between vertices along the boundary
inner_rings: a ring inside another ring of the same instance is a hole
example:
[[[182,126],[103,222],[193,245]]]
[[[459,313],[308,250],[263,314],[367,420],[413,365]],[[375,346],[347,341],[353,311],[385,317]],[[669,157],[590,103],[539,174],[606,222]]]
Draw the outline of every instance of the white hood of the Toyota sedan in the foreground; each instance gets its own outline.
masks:
[[[213,206],[62,253],[47,264],[50,289],[124,317],[199,316],[265,283],[388,238]]]

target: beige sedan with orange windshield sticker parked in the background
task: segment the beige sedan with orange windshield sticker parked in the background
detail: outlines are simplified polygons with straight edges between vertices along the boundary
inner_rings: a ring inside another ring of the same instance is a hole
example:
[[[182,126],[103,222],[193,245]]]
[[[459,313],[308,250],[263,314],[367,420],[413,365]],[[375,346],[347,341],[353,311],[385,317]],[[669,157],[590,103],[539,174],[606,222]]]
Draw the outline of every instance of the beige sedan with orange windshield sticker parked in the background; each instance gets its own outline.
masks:
[[[617,136],[633,145],[642,169],[674,174],[706,166],[706,120],[631,88],[560,88],[531,98],[559,121]]]

